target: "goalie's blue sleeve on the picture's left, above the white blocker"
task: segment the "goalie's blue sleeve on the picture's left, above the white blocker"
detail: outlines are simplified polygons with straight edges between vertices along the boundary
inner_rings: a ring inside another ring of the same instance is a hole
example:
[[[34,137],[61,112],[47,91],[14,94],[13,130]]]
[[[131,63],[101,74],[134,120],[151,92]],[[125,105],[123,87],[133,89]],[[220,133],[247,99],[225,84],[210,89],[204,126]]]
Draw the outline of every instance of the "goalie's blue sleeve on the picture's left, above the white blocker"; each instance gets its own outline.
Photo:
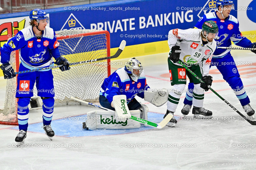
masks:
[[[111,104],[113,101],[113,96],[121,95],[122,81],[120,80],[119,75],[114,72],[111,80],[109,81],[107,90],[105,91],[105,96],[108,99],[108,102]]]

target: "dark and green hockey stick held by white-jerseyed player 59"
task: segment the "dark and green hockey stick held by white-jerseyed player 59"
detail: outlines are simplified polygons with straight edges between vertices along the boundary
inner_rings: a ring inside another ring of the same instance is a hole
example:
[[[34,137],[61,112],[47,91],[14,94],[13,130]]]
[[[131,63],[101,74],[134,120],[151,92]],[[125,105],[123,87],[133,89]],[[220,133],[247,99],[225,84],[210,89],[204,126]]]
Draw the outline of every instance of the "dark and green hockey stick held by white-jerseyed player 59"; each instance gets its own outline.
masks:
[[[201,78],[199,78],[194,72],[192,72],[182,61],[178,61],[177,63],[181,64],[182,66],[184,66],[184,68],[186,68],[186,70],[188,70],[193,76],[196,77],[197,80],[199,80],[200,82],[204,83],[203,80],[201,80]],[[251,125],[256,125],[256,121],[252,121],[250,120],[250,118],[247,118],[246,116],[244,116],[242,113],[240,113],[240,111],[238,111],[234,106],[232,106],[228,101],[226,101],[224,98],[222,98],[215,90],[213,90],[212,88],[209,88],[212,92],[214,92],[214,94],[216,94],[221,100],[223,100],[228,106],[230,106],[234,111],[236,111],[236,113],[238,113],[240,116],[242,116],[246,121],[248,121]]]

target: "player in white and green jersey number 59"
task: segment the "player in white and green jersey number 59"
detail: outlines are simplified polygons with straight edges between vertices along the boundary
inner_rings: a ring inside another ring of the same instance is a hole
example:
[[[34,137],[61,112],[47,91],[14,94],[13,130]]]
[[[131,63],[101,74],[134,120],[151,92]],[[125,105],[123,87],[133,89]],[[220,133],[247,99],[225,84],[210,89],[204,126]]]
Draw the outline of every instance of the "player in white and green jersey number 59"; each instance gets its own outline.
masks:
[[[194,82],[193,92],[193,110],[194,116],[204,115],[212,117],[212,112],[204,109],[204,90],[208,91],[212,85],[212,76],[209,76],[210,61],[212,54],[216,49],[214,38],[218,36],[218,26],[214,21],[206,21],[202,29],[172,29],[168,34],[168,45],[170,53],[168,57],[168,66],[170,81],[173,86],[169,93],[166,115],[173,114],[178,106],[180,96],[186,86],[186,76],[190,82]],[[192,70],[204,83],[197,80],[190,72],[178,64],[181,60]],[[168,123],[169,126],[175,126],[177,123],[175,117]]]

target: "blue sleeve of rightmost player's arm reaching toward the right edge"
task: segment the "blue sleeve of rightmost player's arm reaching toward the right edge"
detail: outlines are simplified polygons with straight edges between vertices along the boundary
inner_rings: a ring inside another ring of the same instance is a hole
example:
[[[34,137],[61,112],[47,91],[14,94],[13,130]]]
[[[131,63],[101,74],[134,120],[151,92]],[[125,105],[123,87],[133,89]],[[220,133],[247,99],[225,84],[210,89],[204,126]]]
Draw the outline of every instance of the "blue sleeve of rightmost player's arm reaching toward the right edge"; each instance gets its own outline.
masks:
[[[239,23],[234,25],[234,34],[232,35],[232,37],[230,37],[230,40],[233,41],[235,45],[238,45],[240,47],[252,47],[252,42],[246,37],[244,37],[242,33],[239,31]]]

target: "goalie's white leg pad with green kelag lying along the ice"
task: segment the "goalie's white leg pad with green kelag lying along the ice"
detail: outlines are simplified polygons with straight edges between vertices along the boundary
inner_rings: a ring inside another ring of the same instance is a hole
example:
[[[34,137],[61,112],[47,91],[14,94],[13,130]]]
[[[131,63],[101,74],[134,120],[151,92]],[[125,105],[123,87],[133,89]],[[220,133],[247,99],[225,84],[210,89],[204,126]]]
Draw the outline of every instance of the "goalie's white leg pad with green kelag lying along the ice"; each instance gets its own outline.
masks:
[[[140,117],[140,110],[131,110],[131,115]],[[112,111],[90,111],[87,113],[86,128],[96,129],[138,129],[140,122],[116,117]]]

